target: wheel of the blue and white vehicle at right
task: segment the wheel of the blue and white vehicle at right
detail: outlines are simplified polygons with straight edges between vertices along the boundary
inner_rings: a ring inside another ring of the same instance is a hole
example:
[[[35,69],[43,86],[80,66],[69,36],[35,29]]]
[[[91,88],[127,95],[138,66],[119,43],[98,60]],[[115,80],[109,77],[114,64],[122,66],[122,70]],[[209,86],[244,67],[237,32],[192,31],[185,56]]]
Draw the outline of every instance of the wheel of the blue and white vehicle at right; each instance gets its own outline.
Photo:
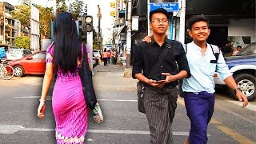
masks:
[[[238,87],[242,89],[242,94],[244,94],[248,101],[253,101],[256,96],[256,79],[251,74],[237,74],[234,75],[234,80],[238,84]],[[234,98],[237,98],[234,90],[231,90]]]

